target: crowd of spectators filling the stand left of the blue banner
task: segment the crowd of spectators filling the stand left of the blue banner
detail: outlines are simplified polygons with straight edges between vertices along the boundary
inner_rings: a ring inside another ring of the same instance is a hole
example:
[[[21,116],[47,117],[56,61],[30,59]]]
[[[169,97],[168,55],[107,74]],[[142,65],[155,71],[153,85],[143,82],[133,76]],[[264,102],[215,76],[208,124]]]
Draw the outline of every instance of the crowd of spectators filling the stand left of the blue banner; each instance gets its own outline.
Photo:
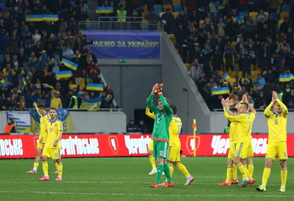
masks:
[[[46,107],[79,108],[82,98],[101,97],[100,108],[110,108],[113,91],[86,90],[87,83],[103,84],[93,41],[78,31],[86,21],[87,0],[0,1],[0,110],[24,110],[34,102]],[[27,22],[29,15],[58,15],[56,21]],[[78,65],[76,70],[62,59]],[[72,70],[67,78],[60,71]],[[101,94],[101,95],[100,95]]]

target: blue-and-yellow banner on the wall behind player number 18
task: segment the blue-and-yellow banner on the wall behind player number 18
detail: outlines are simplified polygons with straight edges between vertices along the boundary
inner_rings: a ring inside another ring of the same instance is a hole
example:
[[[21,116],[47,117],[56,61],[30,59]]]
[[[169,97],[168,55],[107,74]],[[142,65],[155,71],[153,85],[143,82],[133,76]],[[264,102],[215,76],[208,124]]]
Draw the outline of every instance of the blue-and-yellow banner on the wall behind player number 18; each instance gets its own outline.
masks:
[[[40,115],[36,110],[30,110],[29,114],[31,120],[31,132],[39,133],[40,132]],[[57,118],[62,121],[63,132],[73,131],[73,121],[69,109],[58,109]]]

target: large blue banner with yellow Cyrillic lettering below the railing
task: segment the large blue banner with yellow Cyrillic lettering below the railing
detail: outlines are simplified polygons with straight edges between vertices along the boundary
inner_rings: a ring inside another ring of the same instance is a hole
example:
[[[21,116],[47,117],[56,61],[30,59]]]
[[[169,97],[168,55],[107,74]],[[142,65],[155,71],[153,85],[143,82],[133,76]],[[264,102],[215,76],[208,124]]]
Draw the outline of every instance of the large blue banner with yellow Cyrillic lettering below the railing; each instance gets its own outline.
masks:
[[[160,59],[156,31],[86,31],[86,36],[93,40],[89,48],[98,59]]]

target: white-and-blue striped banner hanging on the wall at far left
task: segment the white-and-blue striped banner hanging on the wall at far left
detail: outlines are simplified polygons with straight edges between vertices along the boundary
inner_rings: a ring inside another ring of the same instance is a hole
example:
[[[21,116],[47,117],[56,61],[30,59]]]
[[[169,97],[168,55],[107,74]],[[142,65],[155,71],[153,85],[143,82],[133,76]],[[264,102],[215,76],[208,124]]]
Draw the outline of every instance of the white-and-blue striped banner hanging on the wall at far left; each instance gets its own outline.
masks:
[[[14,125],[16,126],[17,133],[30,133],[31,122],[28,113],[21,112],[7,112],[7,119],[12,118]]]

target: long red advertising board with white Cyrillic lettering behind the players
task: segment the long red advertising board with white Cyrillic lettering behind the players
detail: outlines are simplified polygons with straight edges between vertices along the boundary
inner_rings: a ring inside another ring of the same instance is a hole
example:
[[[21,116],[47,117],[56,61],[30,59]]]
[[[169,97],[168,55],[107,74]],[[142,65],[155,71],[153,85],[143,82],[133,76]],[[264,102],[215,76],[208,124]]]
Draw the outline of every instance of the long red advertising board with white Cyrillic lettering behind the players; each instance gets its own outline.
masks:
[[[228,134],[180,135],[182,156],[227,156]],[[150,134],[64,134],[61,139],[62,157],[147,156]],[[288,135],[294,141],[294,135]],[[38,135],[0,135],[0,158],[34,158]],[[253,134],[254,156],[265,156],[267,134]],[[288,156],[294,148],[288,146]]]

